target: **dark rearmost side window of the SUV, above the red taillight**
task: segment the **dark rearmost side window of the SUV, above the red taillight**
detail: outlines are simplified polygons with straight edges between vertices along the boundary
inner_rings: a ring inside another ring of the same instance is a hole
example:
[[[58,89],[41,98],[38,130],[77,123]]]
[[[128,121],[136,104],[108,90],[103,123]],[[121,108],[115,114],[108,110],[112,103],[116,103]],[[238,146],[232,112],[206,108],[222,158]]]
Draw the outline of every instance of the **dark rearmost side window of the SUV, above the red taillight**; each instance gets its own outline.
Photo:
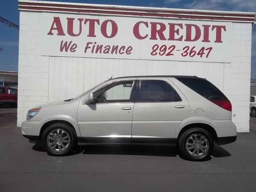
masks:
[[[228,100],[216,86],[205,79],[182,77],[176,79],[208,100]]]

